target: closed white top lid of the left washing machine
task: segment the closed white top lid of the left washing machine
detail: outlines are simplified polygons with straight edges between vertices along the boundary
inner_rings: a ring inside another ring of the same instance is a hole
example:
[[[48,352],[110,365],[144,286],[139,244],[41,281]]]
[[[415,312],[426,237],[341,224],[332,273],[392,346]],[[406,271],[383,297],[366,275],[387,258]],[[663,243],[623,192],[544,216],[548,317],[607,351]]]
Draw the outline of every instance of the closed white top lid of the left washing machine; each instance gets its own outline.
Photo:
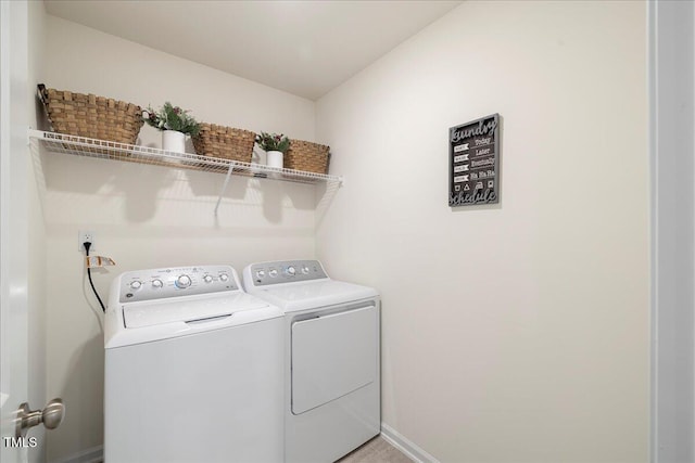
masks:
[[[123,306],[123,319],[126,329],[138,329],[172,322],[190,323],[263,307],[268,307],[268,304],[236,292],[223,297],[189,296],[128,304]]]

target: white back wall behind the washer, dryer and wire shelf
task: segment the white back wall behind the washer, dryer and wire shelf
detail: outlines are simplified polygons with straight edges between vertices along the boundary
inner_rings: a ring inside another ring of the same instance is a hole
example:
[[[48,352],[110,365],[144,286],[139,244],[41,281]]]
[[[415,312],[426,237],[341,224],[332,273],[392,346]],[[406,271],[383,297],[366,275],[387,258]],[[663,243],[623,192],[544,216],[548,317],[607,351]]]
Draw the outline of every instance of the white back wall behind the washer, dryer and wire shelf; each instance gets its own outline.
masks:
[[[222,72],[48,16],[46,83],[143,106],[170,100],[199,120],[314,139],[314,103]],[[143,144],[159,144],[150,127]],[[80,229],[117,267],[93,273],[105,299],[119,272],[167,266],[314,256],[312,187],[235,177],[219,217],[224,176],[45,153],[39,176],[47,226],[48,395],[67,417],[49,434],[49,460],[102,442],[100,309],[85,282]]]

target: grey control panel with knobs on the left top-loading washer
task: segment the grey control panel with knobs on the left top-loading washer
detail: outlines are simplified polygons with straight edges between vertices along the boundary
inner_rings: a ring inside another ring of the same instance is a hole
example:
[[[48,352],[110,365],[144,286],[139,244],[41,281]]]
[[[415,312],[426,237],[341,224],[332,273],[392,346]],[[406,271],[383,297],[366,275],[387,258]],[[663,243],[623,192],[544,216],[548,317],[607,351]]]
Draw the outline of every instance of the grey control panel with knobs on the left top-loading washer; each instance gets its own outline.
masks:
[[[136,270],[119,278],[118,300],[122,303],[239,291],[237,272],[229,266]]]

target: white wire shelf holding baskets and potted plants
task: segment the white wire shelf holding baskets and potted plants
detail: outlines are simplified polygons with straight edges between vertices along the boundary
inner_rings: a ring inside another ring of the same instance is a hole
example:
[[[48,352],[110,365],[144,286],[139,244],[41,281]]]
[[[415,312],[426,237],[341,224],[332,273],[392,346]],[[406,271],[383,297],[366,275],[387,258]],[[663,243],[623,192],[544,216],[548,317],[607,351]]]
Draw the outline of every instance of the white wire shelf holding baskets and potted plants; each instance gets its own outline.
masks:
[[[199,156],[190,153],[174,153],[155,147],[75,137],[64,133],[46,132],[41,130],[29,129],[28,132],[29,140],[35,139],[40,141],[48,151],[54,153],[66,153],[101,159],[116,159],[126,163],[149,164],[177,169],[191,169],[227,175],[231,173],[296,183],[326,182],[338,183],[340,185],[343,182],[343,178],[339,176],[305,172],[303,170],[280,169],[261,164]]]

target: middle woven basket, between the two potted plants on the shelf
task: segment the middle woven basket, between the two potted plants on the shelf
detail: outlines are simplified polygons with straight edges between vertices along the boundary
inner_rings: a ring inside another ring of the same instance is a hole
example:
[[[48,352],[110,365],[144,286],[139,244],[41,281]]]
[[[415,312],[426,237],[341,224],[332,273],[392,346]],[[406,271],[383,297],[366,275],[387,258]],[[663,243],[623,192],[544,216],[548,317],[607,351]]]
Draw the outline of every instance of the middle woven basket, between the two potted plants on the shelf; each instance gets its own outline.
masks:
[[[193,137],[193,147],[201,156],[251,163],[255,139],[256,134],[249,130],[202,123]]]

